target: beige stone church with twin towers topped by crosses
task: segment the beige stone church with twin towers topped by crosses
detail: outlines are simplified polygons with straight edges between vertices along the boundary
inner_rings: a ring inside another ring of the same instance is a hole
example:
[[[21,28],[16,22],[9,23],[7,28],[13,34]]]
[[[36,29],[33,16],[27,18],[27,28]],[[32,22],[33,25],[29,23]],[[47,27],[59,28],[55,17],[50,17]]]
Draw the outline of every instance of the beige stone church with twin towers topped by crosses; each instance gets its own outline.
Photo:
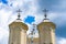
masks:
[[[45,19],[36,25],[38,37],[28,36],[29,26],[20,19],[21,11],[19,10],[18,12],[18,19],[9,24],[9,44],[55,44],[56,25],[47,19],[46,10],[44,14]],[[31,34],[34,34],[34,29]]]

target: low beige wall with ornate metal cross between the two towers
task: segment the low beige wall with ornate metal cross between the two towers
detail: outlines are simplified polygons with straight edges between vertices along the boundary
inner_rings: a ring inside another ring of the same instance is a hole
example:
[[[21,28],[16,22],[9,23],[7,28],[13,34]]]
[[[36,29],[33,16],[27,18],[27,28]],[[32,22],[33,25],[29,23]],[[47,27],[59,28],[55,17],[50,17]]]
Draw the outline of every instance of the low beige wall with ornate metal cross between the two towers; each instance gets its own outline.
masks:
[[[31,36],[28,37],[28,44],[38,44],[38,37],[35,37],[36,24],[33,24],[33,29],[30,33]]]

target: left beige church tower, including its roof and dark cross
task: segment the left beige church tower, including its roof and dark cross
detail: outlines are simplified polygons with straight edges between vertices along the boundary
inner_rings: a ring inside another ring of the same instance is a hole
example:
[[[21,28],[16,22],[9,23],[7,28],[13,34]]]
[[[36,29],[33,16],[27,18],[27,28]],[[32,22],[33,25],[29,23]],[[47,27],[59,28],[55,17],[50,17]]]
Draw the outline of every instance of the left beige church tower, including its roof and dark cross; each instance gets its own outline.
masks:
[[[28,25],[21,22],[20,19],[20,9],[19,9],[18,19],[9,24],[10,34],[9,34],[9,44],[26,44],[26,31]]]

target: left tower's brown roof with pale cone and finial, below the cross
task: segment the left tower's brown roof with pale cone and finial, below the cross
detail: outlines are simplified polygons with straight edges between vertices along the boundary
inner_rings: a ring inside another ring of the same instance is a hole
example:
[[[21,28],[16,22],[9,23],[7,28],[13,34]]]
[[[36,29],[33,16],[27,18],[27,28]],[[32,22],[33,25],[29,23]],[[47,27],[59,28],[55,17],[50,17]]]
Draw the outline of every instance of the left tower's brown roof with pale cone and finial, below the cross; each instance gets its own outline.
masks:
[[[20,26],[23,30],[28,30],[28,25],[25,23],[22,22],[22,20],[20,19],[20,13],[18,15],[18,19],[15,21],[13,21],[11,24],[9,24],[9,26]]]

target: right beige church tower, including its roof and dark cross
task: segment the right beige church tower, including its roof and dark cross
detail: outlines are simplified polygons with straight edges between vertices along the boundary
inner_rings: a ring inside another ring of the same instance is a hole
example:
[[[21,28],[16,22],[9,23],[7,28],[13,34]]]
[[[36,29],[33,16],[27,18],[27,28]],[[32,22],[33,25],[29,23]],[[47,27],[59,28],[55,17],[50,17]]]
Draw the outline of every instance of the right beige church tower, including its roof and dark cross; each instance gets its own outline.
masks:
[[[38,35],[40,35],[40,44],[55,44],[55,24],[47,19],[46,12],[44,10],[45,19],[42,23],[37,25]]]

